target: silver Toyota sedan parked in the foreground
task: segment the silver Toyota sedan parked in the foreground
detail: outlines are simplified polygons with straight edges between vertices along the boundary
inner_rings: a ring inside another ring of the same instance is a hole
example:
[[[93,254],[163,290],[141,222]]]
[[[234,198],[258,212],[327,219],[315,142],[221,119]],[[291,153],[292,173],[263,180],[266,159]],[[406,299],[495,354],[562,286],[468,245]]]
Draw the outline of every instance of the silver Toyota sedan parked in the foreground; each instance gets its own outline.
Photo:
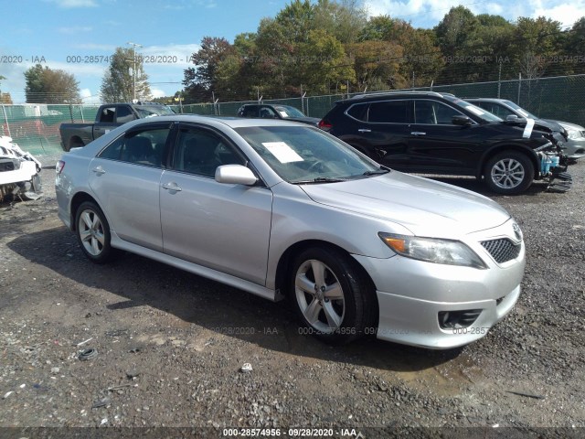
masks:
[[[300,123],[161,116],[62,156],[58,216],[92,262],[119,250],[272,301],[303,332],[425,348],[484,337],[515,305],[514,219],[379,166]]]

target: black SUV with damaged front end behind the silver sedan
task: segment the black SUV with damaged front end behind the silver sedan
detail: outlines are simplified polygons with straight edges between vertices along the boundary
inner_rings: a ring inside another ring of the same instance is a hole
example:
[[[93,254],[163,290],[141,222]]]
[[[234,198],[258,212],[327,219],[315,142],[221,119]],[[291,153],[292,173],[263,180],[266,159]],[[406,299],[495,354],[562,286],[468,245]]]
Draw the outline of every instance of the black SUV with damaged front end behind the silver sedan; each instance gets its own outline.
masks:
[[[319,127],[400,171],[484,177],[501,194],[522,192],[545,177],[550,189],[570,187],[562,135],[535,130],[526,120],[503,121],[452,94],[357,95],[335,102]]]

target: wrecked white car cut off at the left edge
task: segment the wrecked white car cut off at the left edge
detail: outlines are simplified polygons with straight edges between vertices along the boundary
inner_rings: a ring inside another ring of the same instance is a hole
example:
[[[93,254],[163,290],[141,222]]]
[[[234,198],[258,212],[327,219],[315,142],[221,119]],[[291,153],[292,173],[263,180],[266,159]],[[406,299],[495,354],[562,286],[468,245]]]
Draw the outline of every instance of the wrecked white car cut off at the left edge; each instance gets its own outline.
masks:
[[[41,194],[40,162],[16,145],[11,137],[0,137],[0,201],[9,198],[37,199]]]

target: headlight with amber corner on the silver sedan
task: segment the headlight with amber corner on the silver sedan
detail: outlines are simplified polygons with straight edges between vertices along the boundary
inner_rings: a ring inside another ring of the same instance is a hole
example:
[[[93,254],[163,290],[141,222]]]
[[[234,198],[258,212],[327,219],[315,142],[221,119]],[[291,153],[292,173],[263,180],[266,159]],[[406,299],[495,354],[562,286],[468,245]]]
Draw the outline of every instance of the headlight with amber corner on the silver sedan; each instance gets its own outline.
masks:
[[[395,235],[382,231],[378,232],[378,236],[390,249],[407,258],[447,265],[487,268],[479,256],[461,241]]]

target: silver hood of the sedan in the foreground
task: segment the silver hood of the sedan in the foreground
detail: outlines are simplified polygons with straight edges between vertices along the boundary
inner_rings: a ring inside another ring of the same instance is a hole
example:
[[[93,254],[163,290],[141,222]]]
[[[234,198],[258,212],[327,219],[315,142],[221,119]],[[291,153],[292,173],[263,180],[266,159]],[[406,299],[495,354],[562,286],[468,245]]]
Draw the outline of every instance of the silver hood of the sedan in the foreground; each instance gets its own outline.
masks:
[[[489,198],[398,171],[301,187],[317,203],[387,219],[418,236],[454,238],[510,219],[508,212]]]

